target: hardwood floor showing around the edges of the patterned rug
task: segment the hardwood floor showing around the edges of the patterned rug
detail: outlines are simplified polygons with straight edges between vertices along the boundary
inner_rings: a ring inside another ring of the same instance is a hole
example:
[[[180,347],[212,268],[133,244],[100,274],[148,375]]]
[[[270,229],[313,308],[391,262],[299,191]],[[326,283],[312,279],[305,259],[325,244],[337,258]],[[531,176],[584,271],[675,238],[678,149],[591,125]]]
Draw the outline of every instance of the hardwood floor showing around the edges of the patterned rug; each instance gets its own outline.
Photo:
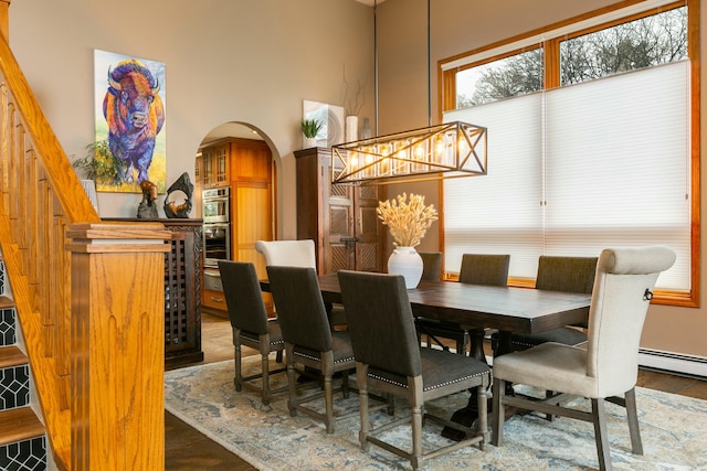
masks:
[[[201,339],[204,360],[189,366],[233,358],[231,324],[228,319],[202,313]],[[254,351],[251,350],[251,354],[253,353]],[[246,354],[245,351],[244,354]],[[639,386],[707,399],[707,381],[641,370]],[[168,471],[255,470],[238,456],[167,411],[165,411],[165,469]]]

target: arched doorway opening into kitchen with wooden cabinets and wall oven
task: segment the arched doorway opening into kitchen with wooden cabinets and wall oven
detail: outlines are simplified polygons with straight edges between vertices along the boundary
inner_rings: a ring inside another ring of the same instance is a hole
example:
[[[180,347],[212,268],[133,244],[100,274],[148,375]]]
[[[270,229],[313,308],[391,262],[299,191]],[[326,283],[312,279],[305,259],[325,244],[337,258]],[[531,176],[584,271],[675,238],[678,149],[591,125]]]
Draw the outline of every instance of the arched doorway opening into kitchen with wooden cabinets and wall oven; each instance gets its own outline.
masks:
[[[203,220],[202,311],[226,317],[219,259],[250,261],[265,277],[255,242],[275,234],[273,144],[239,121],[211,130],[196,156],[198,217]]]

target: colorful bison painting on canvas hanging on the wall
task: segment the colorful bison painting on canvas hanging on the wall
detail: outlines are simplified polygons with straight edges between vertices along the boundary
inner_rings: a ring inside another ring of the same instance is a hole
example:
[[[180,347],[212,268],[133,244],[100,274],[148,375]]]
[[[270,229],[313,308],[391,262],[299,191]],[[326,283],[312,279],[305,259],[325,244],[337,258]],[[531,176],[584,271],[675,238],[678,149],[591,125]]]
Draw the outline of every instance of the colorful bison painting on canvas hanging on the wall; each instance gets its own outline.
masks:
[[[166,191],[165,64],[95,50],[96,191]]]

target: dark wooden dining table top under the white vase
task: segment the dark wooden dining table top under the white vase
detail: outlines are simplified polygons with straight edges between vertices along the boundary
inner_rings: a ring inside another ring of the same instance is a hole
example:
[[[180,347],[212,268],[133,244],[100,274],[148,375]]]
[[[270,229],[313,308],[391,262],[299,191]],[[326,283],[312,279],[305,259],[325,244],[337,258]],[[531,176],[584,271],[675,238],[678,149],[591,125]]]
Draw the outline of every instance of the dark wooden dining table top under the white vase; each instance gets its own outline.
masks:
[[[340,303],[338,276],[318,278],[324,300]],[[266,280],[261,287],[270,290]],[[585,322],[591,302],[591,295],[456,281],[421,281],[408,297],[415,317],[525,334]]]

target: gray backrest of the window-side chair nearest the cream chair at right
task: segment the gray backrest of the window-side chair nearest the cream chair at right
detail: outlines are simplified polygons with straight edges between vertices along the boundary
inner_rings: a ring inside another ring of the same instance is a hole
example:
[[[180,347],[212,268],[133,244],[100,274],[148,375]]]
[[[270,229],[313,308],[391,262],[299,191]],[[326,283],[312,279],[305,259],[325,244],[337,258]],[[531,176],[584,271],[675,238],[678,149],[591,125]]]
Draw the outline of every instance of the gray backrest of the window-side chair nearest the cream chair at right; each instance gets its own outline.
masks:
[[[590,295],[594,287],[597,257],[540,256],[536,289]]]

